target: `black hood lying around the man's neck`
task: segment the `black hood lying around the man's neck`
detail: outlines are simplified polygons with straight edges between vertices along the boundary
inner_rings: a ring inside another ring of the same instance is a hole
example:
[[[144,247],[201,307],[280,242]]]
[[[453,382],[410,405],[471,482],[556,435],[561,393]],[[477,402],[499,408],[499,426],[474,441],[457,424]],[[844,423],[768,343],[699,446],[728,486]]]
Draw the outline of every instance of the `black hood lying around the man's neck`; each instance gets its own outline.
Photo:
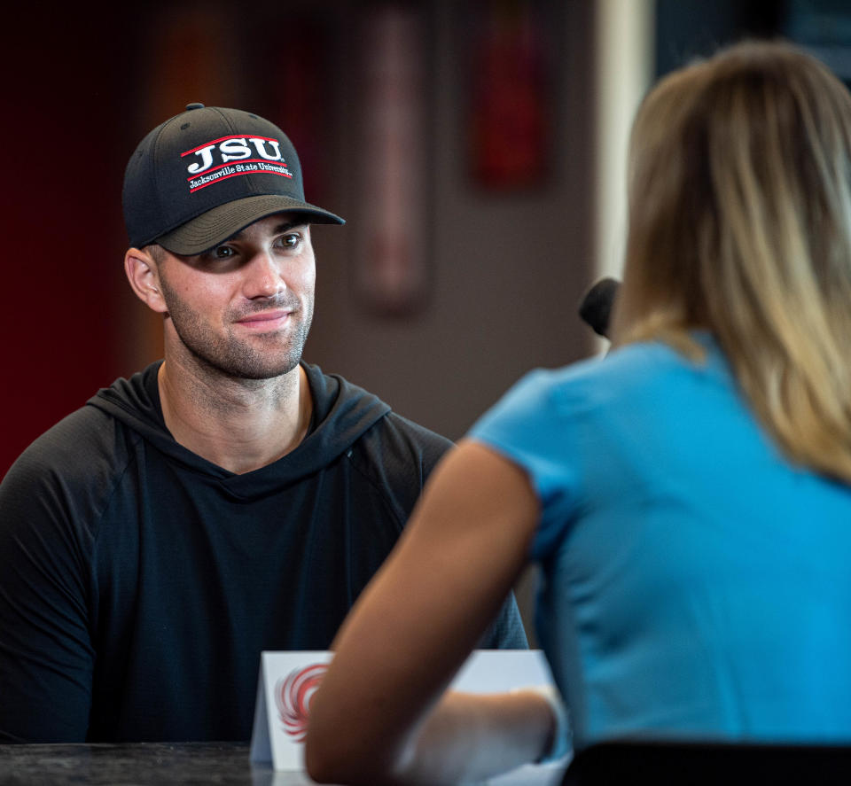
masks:
[[[129,379],[120,377],[86,402],[102,409],[161,453],[192,471],[226,486],[230,494],[249,497],[277,490],[312,474],[347,452],[355,440],[390,411],[377,396],[343,377],[324,374],[302,362],[313,396],[313,421],[308,436],[291,453],[259,470],[236,475],[179,445],[166,428],[160,407],[154,362]]]

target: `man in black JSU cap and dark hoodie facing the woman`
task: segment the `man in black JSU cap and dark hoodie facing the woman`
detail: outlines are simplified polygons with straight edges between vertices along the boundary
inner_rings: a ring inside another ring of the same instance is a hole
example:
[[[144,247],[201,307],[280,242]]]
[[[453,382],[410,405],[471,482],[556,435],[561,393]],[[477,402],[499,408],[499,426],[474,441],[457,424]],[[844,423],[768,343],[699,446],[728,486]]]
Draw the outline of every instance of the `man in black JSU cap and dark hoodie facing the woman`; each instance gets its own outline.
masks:
[[[189,105],[125,173],[165,357],[0,486],[0,738],[251,734],[261,650],[323,650],[449,442],[301,362],[313,223],[269,121]],[[525,647],[513,598],[483,647]],[[380,675],[377,675],[379,678]]]

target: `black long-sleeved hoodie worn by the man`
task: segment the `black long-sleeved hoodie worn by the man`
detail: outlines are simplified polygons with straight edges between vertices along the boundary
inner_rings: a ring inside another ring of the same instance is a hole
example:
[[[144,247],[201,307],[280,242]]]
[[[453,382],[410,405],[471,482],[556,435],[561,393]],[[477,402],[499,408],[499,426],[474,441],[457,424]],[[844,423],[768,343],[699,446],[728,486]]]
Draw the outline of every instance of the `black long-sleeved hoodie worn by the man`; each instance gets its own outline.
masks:
[[[448,440],[303,364],[308,436],[236,475],[177,444],[153,363],[0,485],[0,739],[246,740],[261,650],[327,650]],[[513,598],[484,648],[524,648]]]

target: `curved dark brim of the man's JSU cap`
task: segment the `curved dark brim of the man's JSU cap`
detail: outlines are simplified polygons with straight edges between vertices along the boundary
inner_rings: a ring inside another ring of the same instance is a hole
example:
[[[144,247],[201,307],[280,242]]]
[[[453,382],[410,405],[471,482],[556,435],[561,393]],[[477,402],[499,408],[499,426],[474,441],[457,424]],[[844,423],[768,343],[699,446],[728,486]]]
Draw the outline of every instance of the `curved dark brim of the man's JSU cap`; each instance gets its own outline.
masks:
[[[316,205],[278,194],[235,199],[224,205],[207,210],[176,230],[166,232],[154,240],[171,253],[183,256],[202,253],[219,245],[229,237],[244,230],[249,224],[276,213],[298,213],[308,219],[307,223],[344,224],[339,215],[329,213]]]

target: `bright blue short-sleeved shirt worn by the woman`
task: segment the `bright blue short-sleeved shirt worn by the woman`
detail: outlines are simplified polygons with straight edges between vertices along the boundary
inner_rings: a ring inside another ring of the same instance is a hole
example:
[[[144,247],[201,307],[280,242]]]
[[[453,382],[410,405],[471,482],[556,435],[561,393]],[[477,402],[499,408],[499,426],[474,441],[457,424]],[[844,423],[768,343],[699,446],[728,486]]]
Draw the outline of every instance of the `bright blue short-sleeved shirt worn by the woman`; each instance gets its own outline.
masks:
[[[706,334],[524,377],[471,436],[542,504],[537,628],[574,746],[851,741],[851,489],[792,465]]]

